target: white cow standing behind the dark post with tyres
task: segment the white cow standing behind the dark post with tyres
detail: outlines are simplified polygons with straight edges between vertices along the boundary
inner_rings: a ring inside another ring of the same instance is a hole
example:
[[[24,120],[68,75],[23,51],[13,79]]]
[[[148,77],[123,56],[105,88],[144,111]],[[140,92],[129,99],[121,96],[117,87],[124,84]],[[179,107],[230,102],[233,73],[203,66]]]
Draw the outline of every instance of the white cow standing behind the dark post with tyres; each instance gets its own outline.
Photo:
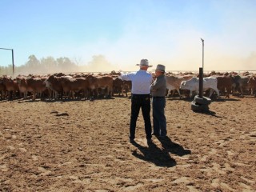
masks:
[[[190,90],[190,98],[193,96],[193,92],[195,91],[196,94],[199,93],[199,78],[191,78],[188,81],[183,81],[180,86],[181,90]],[[218,94],[219,98],[219,91],[217,88],[217,78],[215,77],[208,77],[203,78],[203,90],[209,90],[210,89],[210,96],[214,93],[214,90]]]

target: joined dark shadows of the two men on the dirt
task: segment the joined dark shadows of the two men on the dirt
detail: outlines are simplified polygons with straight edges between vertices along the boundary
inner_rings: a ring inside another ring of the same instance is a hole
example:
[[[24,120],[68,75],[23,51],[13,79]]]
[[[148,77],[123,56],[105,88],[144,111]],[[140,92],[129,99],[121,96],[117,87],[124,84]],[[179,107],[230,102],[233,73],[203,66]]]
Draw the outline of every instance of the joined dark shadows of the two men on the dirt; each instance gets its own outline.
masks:
[[[186,154],[191,154],[190,150],[184,150],[184,148],[178,143],[172,142],[170,138],[158,138],[159,142],[162,144],[162,149],[154,144],[154,142],[148,143],[148,147],[141,146],[137,142],[132,144],[140,150],[142,154],[138,154],[136,150],[133,151],[133,155],[136,158],[140,158],[147,162],[153,162],[156,166],[166,166],[172,167],[176,166],[176,161],[174,158],[170,157],[170,154],[176,154],[178,156],[183,156]]]

